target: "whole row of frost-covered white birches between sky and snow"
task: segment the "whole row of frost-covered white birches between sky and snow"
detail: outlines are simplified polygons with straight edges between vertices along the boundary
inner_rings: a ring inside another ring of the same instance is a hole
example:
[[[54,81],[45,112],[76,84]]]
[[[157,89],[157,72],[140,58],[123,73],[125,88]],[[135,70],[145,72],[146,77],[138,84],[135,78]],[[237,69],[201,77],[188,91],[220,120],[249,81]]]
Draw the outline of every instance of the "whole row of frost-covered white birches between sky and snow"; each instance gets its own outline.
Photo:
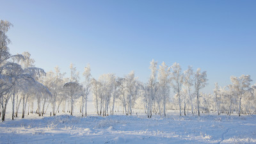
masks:
[[[89,95],[97,115],[114,115],[116,107],[122,108],[124,115],[132,115],[134,109],[152,117],[152,114],[166,116],[168,109],[175,109],[181,115],[200,116],[200,113],[216,112],[218,115],[230,115],[236,112],[254,114],[256,108],[255,88],[250,76],[231,76],[231,84],[220,87],[218,83],[212,93],[202,93],[207,85],[207,73],[200,68],[188,67],[182,71],[179,63],[172,66],[157,61],[150,61],[150,76],[147,83],[142,83],[131,71],[124,77],[115,74],[102,74],[98,79],[92,77],[90,65],[84,67],[80,77],[76,67],[70,64],[70,76],[54,71],[45,72],[36,68],[35,60],[29,52],[12,55],[6,35],[12,24],[1,20],[0,24],[0,116],[4,121],[8,102],[12,102],[12,119],[18,116],[22,107],[22,118],[25,113],[43,116],[51,108],[51,115],[59,111],[74,115],[74,104],[78,103],[82,116],[87,115]],[[81,81],[81,79],[83,79]],[[121,110],[120,110],[121,111]]]

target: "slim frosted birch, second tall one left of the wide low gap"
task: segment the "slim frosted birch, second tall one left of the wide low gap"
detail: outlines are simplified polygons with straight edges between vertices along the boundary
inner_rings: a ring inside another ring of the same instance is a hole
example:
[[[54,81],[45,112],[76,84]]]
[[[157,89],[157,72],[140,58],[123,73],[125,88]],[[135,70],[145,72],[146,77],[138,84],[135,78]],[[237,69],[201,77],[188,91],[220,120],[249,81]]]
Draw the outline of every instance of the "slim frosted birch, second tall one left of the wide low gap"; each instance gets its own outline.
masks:
[[[193,113],[193,99],[192,99],[193,93],[191,93],[191,88],[192,88],[193,82],[194,82],[193,76],[194,76],[193,69],[192,69],[192,67],[189,66],[188,70],[184,71],[184,90],[186,91],[186,94],[190,98],[192,115],[194,115],[194,113]]]

